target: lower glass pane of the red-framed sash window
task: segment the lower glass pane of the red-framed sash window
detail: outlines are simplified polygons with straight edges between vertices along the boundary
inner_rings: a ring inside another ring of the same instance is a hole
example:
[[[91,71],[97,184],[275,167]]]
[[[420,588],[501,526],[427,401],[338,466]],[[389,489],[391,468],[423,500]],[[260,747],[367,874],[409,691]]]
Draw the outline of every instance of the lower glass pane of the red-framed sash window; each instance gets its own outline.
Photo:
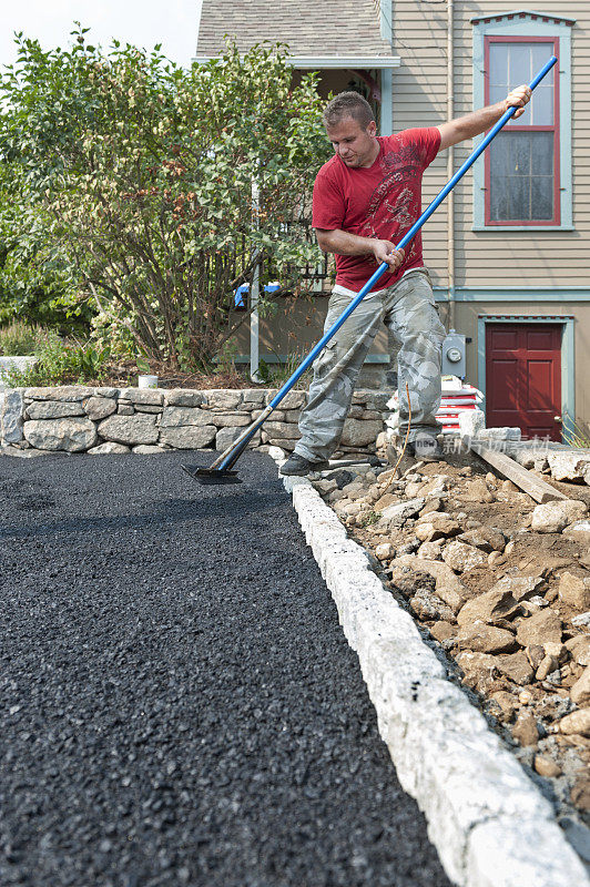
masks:
[[[500,133],[490,145],[490,220],[553,217],[553,134]]]

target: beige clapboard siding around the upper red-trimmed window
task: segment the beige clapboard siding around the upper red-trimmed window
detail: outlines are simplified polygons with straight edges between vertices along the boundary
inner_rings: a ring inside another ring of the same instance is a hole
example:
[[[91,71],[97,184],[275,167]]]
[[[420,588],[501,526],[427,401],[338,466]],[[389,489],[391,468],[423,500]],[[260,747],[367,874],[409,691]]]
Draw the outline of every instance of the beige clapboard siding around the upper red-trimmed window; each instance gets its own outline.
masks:
[[[492,6],[492,8],[491,8]],[[590,3],[584,0],[558,3],[536,0],[536,11],[571,16],[572,29],[572,131],[573,218],[576,231],[568,232],[474,232],[472,175],[467,173],[456,186],[455,238],[457,286],[505,286],[506,266],[499,258],[516,251],[510,279],[516,286],[566,285],[590,287],[588,242],[590,238]],[[561,9],[567,6],[567,9]],[[513,0],[455,1],[455,116],[472,110],[472,27],[476,14],[497,14],[519,8]],[[401,67],[394,72],[394,129],[431,126],[447,115],[447,19],[445,4],[419,0],[396,0],[394,3],[394,51],[401,57]],[[467,159],[471,145],[455,149],[455,169]],[[440,162],[442,161],[442,162]],[[480,163],[481,161],[478,161]],[[425,202],[442,187],[447,179],[446,155],[440,155],[425,174]],[[444,238],[444,243],[441,243]],[[447,282],[447,213],[441,206],[428,221],[424,232],[425,261],[439,285]],[[515,246],[508,247],[508,244]],[[551,269],[553,269],[551,272]],[[548,276],[549,275],[549,276]]]

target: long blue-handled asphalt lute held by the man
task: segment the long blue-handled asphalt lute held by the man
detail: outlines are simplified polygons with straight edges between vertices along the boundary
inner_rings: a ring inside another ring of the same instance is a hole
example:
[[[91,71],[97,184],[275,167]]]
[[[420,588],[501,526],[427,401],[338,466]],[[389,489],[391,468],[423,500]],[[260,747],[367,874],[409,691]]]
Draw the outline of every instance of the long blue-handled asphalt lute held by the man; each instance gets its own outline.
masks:
[[[557,58],[552,55],[549,61],[541,68],[537,77],[529,83],[529,88],[535,90],[536,86],[539,85],[543,77],[551,70],[551,68],[556,64]],[[428,206],[427,210],[424,211],[421,216],[418,218],[417,222],[409,228],[409,231],[401,237],[399,243],[396,245],[395,249],[403,249],[407,244],[413,239],[413,237],[417,234],[417,232],[421,228],[424,223],[433,215],[435,210],[442,203],[447,194],[455,187],[457,182],[462,179],[465,173],[472,166],[476,160],[479,157],[480,154],[484,153],[486,147],[489,145],[491,140],[500,132],[502,126],[505,126],[510,118],[515,114],[517,108],[509,108],[506,111],[500,120],[496,123],[495,126],[489,131],[486,137],[479,143],[472,154],[465,161],[462,166],[455,173],[452,179],[447,182],[442,191],[435,197],[431,204]],[[252,422],[248,428],[246,428],[240,437],[230,446],[227,447],[224,452],[213,462],[210,468],[200,468],[197,466],[183,466],[184,470],[191,475],[191,477],[195,478],[202,483],[238,483],[240,478],[237,477],[236,471],[232,471],[231,469],[242,455],[242,452],[247,447],[250,440],[254,437],[258,428],[266,421],[268,416],[273,412],[274,409],[281,404],[283,398],[285,397],[288,391],[293,388],[297,379],[303,376],[305,370],[313,364],[316,359],[318,354],[322,351],[324,346],[329,341],[329,339],[334,336],[334,334],[340,328],[344,322],[354,312],[356,306],[363,300],[363,298],[369,293],[379,277],[389,268],[387,262],[384,262],[373,277],[367,281],[363,289],[355,296],[355,298],[350,302],[350,304],[345,308],[345,310],[340,314],[336,323],[324,334],[317,345],[313,348],[312,351],[307,355],[307,357],[303,360],[303,363],[297,367],[295,373],[291,376],[289,379],[285,383],[285,385],[281,388],[281,390],[275,395],[275,397],[271,400],[268,406],[265,410],[258,416],[258,418]]]

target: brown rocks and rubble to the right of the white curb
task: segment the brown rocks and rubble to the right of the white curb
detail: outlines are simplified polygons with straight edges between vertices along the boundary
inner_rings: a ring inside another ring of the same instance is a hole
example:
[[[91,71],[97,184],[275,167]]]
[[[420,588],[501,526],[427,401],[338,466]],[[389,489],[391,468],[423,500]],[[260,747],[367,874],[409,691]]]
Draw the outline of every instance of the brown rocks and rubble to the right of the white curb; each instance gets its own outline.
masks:
[[[404,470],[405,469],[405,470]],[[537,504],[472,453],[313,476],[590,848],[590,489]],[[572,826],[573,827],[573,826]]]

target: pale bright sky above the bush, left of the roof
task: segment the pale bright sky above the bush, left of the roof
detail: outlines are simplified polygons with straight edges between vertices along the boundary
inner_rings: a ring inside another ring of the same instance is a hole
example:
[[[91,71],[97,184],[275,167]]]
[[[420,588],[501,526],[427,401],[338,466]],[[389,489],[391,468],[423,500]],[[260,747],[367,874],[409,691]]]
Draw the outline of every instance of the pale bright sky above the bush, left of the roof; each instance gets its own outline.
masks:
[[[67,47],[73,22],[91,30],[89,43],[106,49],[111,38],[162,52],[189,65],[195,54],[201,0],[16,0],[2,4],[0,65],[16,60],[14,31],[37,38],[43,49]]]

